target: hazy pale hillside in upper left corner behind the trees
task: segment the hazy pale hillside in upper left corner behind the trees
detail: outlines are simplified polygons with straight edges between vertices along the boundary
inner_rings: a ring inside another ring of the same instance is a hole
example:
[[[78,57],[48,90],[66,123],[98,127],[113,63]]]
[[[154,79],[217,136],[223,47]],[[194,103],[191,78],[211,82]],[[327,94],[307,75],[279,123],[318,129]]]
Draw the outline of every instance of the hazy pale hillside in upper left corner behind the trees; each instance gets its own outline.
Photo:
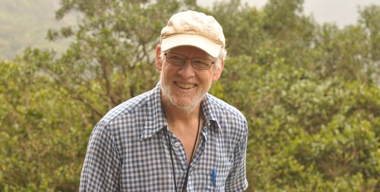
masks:
[[[57,21],[59,0],[0,0],[0,60],[12,59],[25,47],[53,48],[63,52],[68,40],[49,42],[48,29],[75,24],[75,17]]]

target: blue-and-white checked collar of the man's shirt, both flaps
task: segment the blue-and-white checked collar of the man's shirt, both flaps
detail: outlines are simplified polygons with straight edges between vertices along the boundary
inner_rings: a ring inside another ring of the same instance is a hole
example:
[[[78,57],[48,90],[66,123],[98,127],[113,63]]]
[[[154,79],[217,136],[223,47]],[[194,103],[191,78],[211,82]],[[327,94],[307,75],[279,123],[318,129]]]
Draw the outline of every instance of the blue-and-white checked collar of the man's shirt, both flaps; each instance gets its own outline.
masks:
[[[164,110],[162,109],[160,87],[161,83],[158,82],[157,86],[150,91],[151,93],[148,96],[146,109],[147,119],[145,121],[140,141],[152,137],[159,130],[167,127]],[[220,124],[211,105],[209,94],[203,98],[201,105],[203,114],[205,114],[206,123],[208,125],[206,127],[217,127],[217,129],[221,132]]]

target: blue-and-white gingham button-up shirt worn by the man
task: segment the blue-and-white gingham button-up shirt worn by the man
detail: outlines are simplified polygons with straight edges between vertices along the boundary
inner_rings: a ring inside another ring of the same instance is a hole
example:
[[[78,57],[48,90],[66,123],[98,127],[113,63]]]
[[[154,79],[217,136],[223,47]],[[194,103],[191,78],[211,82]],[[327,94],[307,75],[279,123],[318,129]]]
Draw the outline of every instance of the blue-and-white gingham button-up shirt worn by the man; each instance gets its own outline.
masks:
[[[204,123],[190,164],[188,192],[247,189],[247,121],[236,108],[207,94]],[[80,191],[173,192],[168,126],[160,101],[160,83],[149,92],[116,106],[91,134],[80,178]],[[169,132],[177,191],[186,175],[181,142]],[[217,170],[216,185],[212,169]]]

